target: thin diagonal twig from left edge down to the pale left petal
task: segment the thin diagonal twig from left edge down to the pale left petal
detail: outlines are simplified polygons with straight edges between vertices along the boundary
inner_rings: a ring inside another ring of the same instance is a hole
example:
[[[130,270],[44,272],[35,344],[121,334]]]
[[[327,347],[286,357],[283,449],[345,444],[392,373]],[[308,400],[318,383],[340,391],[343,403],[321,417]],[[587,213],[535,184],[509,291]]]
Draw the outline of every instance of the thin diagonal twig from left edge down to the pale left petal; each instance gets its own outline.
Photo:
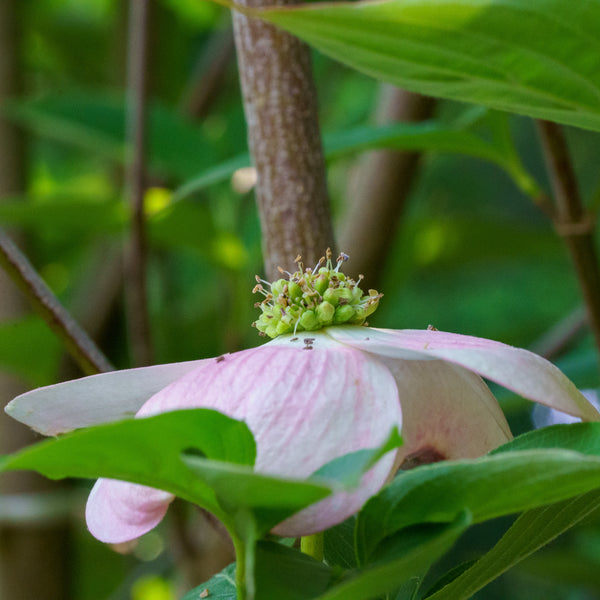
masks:
[[[71,356],[86,374],[114,370],[108,359],[62,306],[27,258],[1,230],[0,266],[23,291],[52,331],[63,341]]]

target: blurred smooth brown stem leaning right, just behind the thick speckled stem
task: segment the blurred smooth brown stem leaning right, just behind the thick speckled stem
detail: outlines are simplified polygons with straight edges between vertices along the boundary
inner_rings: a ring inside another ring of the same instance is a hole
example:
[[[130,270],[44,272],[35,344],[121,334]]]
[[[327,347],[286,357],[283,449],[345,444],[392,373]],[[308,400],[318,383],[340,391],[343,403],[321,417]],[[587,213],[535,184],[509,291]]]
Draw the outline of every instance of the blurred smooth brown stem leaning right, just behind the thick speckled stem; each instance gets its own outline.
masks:
[[[376,121],[423,121],[435,100],[382,86]],[[350,255],[352,271],[376,287],[418,173],[420,152],[380,150],[359,163],[348,189],[349,208],[339,234],[340,250]]]

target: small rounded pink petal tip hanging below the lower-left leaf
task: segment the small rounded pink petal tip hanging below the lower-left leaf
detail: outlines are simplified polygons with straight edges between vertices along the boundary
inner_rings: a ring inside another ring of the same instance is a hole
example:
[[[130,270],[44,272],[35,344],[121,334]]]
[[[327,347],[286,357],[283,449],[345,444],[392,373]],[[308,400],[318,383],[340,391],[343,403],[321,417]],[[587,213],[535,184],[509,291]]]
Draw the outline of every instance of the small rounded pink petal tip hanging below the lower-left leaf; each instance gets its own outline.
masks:
[[[173,498],[168,492],[143,485],[99,479],[85,509],[88,529],[107,544],[128,542],[156,527]]]

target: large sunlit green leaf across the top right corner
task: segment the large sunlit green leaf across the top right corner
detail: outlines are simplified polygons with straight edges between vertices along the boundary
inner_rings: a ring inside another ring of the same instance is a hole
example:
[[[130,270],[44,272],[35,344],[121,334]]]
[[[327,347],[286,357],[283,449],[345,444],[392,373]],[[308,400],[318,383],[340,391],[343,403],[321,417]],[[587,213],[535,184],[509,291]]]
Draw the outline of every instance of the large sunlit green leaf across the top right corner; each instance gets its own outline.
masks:
[[[598,0],[387,0],[245,12],[404,89],[600,131]]]

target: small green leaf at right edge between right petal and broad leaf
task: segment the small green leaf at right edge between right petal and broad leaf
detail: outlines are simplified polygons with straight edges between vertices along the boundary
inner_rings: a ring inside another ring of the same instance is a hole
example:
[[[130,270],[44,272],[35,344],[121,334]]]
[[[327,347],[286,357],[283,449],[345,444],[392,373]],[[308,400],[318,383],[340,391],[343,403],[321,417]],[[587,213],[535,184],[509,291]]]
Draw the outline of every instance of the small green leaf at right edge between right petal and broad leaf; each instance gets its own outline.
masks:
[[[552,425],[529,431],[492,450],[490,455],[533,448],[564,448],[600,456],[600,423]]]

